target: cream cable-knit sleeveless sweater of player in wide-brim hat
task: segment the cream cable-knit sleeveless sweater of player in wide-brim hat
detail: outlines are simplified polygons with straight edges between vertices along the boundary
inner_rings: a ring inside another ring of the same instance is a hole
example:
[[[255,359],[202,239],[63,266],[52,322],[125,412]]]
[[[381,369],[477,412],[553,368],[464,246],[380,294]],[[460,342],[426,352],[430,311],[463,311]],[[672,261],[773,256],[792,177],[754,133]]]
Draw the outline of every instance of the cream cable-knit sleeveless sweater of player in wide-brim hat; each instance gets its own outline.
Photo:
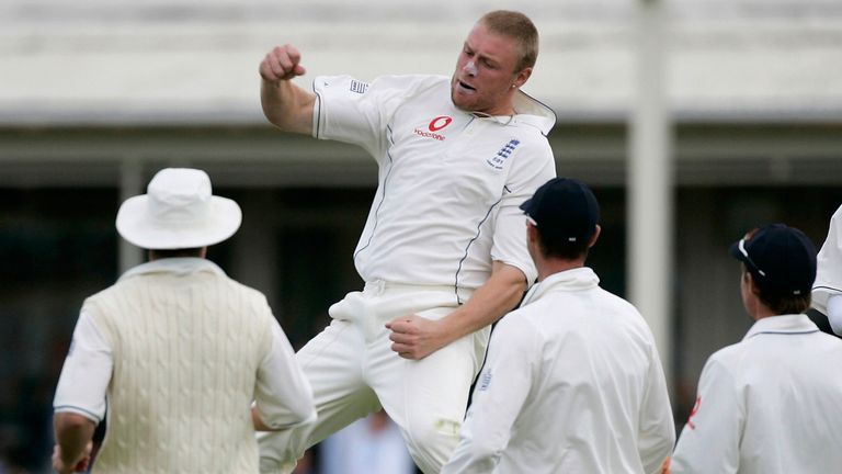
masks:
[[[113,348],[103,473],[257,473],[250,417],[273,316],[214,272],[147,273],[86,301]]]

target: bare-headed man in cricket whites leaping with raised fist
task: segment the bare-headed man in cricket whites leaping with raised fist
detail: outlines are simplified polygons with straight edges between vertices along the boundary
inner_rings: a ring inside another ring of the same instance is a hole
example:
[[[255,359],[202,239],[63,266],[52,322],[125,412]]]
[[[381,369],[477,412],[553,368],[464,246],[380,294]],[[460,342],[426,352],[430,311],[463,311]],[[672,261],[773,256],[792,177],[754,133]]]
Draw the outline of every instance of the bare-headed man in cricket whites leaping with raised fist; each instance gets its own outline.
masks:
[[[386,409],[416,463],[439,472],[458,440],[488,326],[535,280],[517,206],[555,176],[555,115],[521,92],[537,57],[523,14],[497,11],[470,31],[452,78],[317,77],[291,46],[260,65],[278,128],[365,148],[377,192],[354,263],[365,281],[331,306],[298,352],[318,421],[261,438],[263,472],[289,472],[305,449]]]

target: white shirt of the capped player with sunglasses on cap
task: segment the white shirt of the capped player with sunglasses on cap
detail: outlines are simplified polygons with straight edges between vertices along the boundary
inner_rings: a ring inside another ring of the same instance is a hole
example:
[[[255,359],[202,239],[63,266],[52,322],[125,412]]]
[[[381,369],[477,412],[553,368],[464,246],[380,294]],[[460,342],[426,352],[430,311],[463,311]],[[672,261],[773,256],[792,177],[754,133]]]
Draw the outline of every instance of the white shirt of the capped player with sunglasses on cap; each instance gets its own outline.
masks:
[[[759,319],[707,360],[673,474],[840,472],[840,368],[842,340],[806,315]]]

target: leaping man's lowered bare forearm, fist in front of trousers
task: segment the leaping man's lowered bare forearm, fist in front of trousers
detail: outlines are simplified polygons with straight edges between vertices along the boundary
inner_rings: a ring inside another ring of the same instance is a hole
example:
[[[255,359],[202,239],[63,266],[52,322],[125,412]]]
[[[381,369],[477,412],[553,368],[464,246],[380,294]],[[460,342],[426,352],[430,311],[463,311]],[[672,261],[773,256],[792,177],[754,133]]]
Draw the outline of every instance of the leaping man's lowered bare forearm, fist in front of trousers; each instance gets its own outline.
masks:
[[[467,303],[432,320],[402,316],[386,324],[391,350],[405,359],[423,359],[448,343],[481,329],[512,311],[526,291],[526,276],[512,266],[494,261],[491,276]]]

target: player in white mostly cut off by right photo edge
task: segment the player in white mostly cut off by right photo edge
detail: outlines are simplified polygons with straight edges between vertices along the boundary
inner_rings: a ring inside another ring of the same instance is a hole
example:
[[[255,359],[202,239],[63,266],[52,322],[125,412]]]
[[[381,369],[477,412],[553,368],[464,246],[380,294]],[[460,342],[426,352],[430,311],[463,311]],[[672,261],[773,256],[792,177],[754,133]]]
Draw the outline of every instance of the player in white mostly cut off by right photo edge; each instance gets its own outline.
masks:
[[[842,205],[830,218],[828,238],[817,257],[812,307],[824,314],[833,334],[842,337]]]

